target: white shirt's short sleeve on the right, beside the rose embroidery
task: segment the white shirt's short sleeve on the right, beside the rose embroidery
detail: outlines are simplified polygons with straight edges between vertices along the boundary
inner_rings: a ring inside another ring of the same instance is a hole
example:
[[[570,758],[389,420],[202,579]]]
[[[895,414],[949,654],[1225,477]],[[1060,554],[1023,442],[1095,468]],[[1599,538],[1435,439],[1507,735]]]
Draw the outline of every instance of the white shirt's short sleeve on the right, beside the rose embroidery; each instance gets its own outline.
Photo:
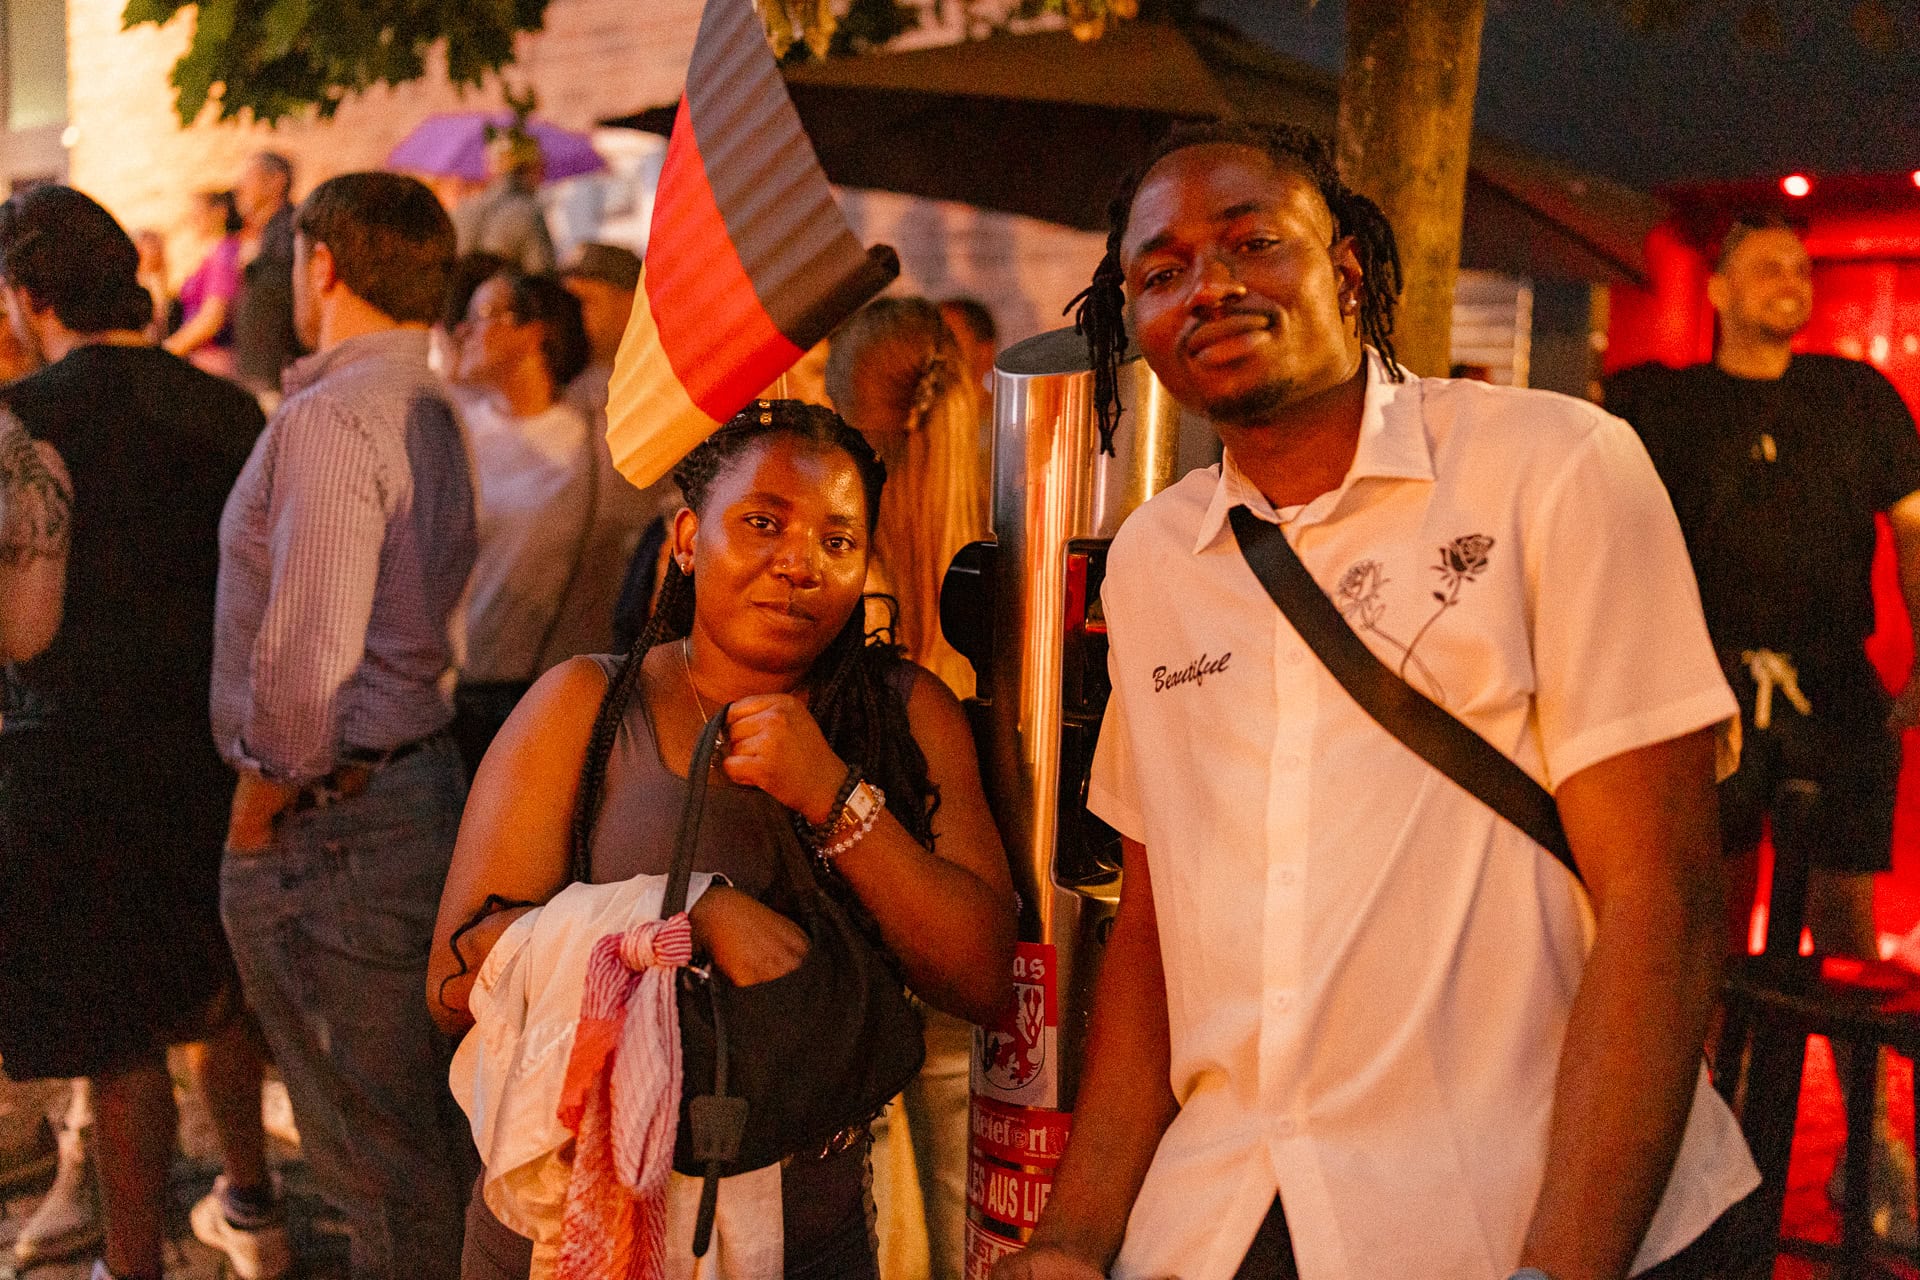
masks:
[[[1738,716],[1672,503],[1603,416],[1530,516],[1534,708],[1548,785]]]

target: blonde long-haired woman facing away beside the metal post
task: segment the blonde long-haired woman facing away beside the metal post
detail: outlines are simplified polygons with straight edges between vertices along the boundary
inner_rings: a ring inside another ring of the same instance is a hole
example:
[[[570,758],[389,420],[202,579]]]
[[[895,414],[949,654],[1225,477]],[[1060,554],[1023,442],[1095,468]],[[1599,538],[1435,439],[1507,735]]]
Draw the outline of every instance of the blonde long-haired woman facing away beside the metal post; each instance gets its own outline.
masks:
[[[956,697],[973,668],[941,635],[941,580],[954,553],[987,533],[979,388],[939,307],[881,297],[833,330],[826,370],[833,407],[887,464],[868,591],[899,601],[895,639]],[[927,1222],[929,1274],[966,1263],[968,1067],[973,1029],[925,1011],[927,1063],[906,1088],[906,1126]]]

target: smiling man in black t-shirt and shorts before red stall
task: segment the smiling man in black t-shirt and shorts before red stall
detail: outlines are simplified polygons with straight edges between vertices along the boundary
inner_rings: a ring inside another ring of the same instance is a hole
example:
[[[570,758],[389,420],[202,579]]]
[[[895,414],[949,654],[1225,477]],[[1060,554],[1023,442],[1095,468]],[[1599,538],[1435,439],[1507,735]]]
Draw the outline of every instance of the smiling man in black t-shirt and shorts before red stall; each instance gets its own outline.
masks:
[[[1707,296],[1720,319],[1713,363],[1622,370],[1607,409],[1667,482],[1741,704],[1740,770],[1720,785],[1728,942],[1747,950],[1770,818],[1776,856],[1809,865],[1814,948],[1876,960],[1874,873],[1891,867],[1899,735],[1920,723],[1920,681],[1889,699],[1862,641],[1882,512],[1920,624],[1920,434],[1872,365],[1793,353],[1812,259],[1786,223],[1736,223]]]

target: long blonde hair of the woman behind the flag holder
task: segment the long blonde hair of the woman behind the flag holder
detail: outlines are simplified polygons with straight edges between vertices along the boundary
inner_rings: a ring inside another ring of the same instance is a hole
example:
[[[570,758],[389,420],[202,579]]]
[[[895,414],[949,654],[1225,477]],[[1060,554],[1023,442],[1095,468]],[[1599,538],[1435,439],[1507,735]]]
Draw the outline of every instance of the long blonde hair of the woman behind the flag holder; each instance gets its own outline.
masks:
[[[956,697],[973,668],[941,635],[941,581],[954,553],[987,533],[979,390],[939,307],[881,297],[833,330],[828,395],[887,464],[868,589],[899,601],[908,656]]]

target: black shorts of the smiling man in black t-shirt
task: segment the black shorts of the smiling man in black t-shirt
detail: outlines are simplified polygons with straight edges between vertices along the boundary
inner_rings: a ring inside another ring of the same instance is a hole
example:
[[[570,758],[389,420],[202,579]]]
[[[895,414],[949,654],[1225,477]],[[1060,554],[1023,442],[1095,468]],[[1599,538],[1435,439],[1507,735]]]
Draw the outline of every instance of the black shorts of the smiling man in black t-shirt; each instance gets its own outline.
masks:
[[[1872,873],[1893,865],[1893,798],[1901,743],[1887,733],[1887,693],[1864,654],[1801,662],[1801,716],[1774,691],[1772,725],[1753,725],[1755,683],[1745,664],[1726,664],[1740,699],[1740,770],[1720,783],[1720,841],[1751,852],[1766,818],[1774,850],[1824,871]],[[1795,804],[1795,793],[1803,802]],[[1786,818],[1782,818],[1786,814]]]

